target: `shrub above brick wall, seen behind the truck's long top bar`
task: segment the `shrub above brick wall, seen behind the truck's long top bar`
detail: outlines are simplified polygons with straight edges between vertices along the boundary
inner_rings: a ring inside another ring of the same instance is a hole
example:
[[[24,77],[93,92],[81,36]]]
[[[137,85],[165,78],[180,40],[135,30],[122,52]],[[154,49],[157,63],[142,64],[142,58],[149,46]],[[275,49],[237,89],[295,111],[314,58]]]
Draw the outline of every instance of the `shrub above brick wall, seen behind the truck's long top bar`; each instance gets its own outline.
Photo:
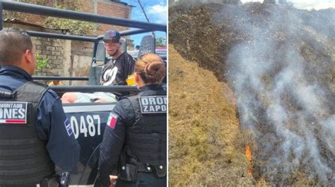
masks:
[[[82,11],[80,7],[72,6],[74,11]],[[61,9],[71,9],[69,6],[57,6],[57,8]],[[72,8],[72,9],[73,9]],[[69,20],[65,18],[54,18],[47,17],[45,18],[45,26],[48,28],[55,29],[69,29],[72,34],[76,35],[93,35],[96,34],[98,30],[100,30],[100,25],[95,23],[90,23],[86,21],[80,20]]]

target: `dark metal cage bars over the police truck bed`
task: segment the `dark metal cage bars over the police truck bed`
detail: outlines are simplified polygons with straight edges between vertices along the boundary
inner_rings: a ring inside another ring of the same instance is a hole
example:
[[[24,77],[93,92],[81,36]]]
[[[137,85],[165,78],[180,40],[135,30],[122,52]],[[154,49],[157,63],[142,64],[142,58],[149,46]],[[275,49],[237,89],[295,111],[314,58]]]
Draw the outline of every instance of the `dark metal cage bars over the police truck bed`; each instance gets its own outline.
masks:
[[[32,13],[41,16],[52,16],[57,18],[67,18],[72,20],[83,20],[92,23],[104,23],[108,25],[118,25],[130,28],[119,32],[121,36],[136,35],[151,31],[162,31],[167,32],[167,25],[158,23],[147,23],[138,20],[128,20],[124,18],[116,18],[110,16],[101,16],[93,13],[83,13],[79,11],[70,11],[59,8],[52,8],[48,6],[40,6],[36,4],[26,4],[16,1],[2,1],[0,0],[0,30],[4,28],[3,13],[6,11],[18,11],[22,13]],[[136,28],[136,29],[134,29]],[[27,31],[30,36],[33,37],[48,37],[52,39],[60,40],[77,40],[83,42],[95,43],[93,47],[93,58],[97,51],[97,44],[102,40],[103,35],[97,37],[88,37],[80,35],[63,35],[49,32],[37,32]],[[34,80],[88,80],[88,77],[61,77],[61,76],[33,76]],[[136,90],[135,87],[129,86],[99,86],[99,85],[88,85],[88,86],[52,86],[50,87],[56,92],[129,92]]]

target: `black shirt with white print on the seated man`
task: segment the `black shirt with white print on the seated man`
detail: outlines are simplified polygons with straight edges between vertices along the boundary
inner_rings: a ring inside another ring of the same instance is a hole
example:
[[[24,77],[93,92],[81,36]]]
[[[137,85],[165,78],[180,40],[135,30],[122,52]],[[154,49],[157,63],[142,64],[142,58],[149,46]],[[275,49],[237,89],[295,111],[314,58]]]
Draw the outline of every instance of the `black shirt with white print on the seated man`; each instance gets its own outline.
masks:
[[[135,60],[124,52],[117,59],[111,59],[102,68],[102,85],[127,85],[126,79],[134,73]]]

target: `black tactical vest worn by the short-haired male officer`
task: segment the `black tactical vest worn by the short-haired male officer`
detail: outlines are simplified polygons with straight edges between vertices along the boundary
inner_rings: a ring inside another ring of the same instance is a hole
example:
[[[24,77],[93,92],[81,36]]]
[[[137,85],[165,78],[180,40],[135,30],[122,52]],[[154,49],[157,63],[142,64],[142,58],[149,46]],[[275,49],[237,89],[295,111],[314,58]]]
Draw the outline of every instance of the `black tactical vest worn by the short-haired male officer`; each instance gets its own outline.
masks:
[[[54,164],[37,137],[37,106],[45,85],[27,82],[13,97],[0,95],[0,186],[34,186],[54,174]]]

